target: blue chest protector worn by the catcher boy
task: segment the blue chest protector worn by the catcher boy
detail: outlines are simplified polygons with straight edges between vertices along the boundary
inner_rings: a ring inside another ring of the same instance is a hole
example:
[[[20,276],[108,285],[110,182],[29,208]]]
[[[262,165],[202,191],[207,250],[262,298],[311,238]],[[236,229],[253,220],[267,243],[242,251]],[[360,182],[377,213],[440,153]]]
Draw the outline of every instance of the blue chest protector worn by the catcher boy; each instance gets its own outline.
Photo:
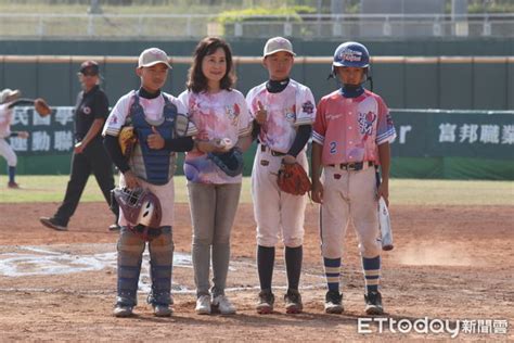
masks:
[[[175,173],[175,153],[171,150],[150,149],[146,139],[153,134],[152,126],[155,126],[160,136],[167,140],[174,138],[175,120],[177,117],[177,106],[163,94],[165,106],[163,117],[158,123],[149,123],[141,106],[139,96],[133,96],[133,103],[130,106],[130,117],[138,136],[138,144],[134,153],[130,157],[130,165],[136,175],[152,185],[166,185]]]

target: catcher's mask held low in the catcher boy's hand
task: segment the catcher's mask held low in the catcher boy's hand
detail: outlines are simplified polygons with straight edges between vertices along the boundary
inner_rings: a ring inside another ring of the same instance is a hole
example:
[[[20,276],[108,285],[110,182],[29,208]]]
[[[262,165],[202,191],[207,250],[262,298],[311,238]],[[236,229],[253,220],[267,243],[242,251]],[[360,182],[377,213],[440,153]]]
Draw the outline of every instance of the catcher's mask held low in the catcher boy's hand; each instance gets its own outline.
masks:
[[[115,188],[113,194],[130,225],[153,229],[160,226],[160,202],[151,191],[142,188]]]

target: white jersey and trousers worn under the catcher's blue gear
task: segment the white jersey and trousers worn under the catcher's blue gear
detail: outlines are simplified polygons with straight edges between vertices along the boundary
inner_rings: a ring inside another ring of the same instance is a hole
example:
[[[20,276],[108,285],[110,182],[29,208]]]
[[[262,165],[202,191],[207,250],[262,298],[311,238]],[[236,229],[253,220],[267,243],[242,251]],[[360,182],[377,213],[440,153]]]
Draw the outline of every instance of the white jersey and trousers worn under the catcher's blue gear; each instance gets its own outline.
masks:
[[[105,126],[103,128],[102,135],[110,135],[117,137],[119,135],[119,130],[124,126],[125,122],[127,120],[127,116],[129,115],[130,106],[133,102],[134,90],[130,91],[129,93],[123,96],[116,105],[111,111],[111,114],[105,122]],[[168,98],[168,100],[177,106],[178,113],[185,113],[185,109],[182,103],[175,97],[163,92],[163,94]],[[144,115],[150,120],[159,120],[163,117],[163,109],[165,105],[165,101],[163,97],[157,97],[154,99],[145,99],[139,98],[140,104],[144,110]],[[188,129],[188,136],[194,135],[196,132],[196,128],[194,125],[191,125]],[[171,178],[168,183],[156,186],[144,180],[139,180],[143,188],[149,189],[153,192],[160,201],[160,206],[163,209],[163,219],[160,220],[160,226],[174,226],[174,212],[175,212],[175,185],[174,178]],[[125,178],[123,174],[119,178],[119,186],[125,187]],[[127,226],[127,219],[125,219],[123,212],[119,213],[119,221],[120,226]]]

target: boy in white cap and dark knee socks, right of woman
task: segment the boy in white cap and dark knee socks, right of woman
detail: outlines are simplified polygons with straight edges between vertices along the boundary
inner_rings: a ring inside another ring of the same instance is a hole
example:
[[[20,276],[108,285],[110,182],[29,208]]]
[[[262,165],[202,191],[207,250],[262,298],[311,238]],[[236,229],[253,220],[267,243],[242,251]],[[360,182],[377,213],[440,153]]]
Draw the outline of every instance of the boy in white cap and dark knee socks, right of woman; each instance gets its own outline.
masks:
[[[269,79],[254,87],[246,96],[254,116],[253,136],[259,145],[252,172],[252,196],[257,221],[257,269],[260,293],[257,313],[273,310],[271,290],[275,244],[279,234],[285,245],[287,314],[303,310],[298,283],[301,272],[304,217],[307,195],[291,194],[279,188],[278,174],[283,164],[298,164],[308,169],[306,144],[316,116],[310,89],[290,78],[294,64],[293,46],[282,37],[268,40],[262,64]]]

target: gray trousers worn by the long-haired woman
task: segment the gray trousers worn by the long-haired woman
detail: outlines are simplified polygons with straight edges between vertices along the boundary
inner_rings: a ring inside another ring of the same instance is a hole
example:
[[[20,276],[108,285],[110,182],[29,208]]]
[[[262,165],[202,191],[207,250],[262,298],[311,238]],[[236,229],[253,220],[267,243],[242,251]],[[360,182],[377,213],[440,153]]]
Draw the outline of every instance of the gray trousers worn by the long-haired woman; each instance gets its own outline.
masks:
[[[188,183],[193,224],[193,268],[196,295],[209,294],[213,258],[214,296],[223,295],[230,261],[230,232],[241,194],[241,183]]]

